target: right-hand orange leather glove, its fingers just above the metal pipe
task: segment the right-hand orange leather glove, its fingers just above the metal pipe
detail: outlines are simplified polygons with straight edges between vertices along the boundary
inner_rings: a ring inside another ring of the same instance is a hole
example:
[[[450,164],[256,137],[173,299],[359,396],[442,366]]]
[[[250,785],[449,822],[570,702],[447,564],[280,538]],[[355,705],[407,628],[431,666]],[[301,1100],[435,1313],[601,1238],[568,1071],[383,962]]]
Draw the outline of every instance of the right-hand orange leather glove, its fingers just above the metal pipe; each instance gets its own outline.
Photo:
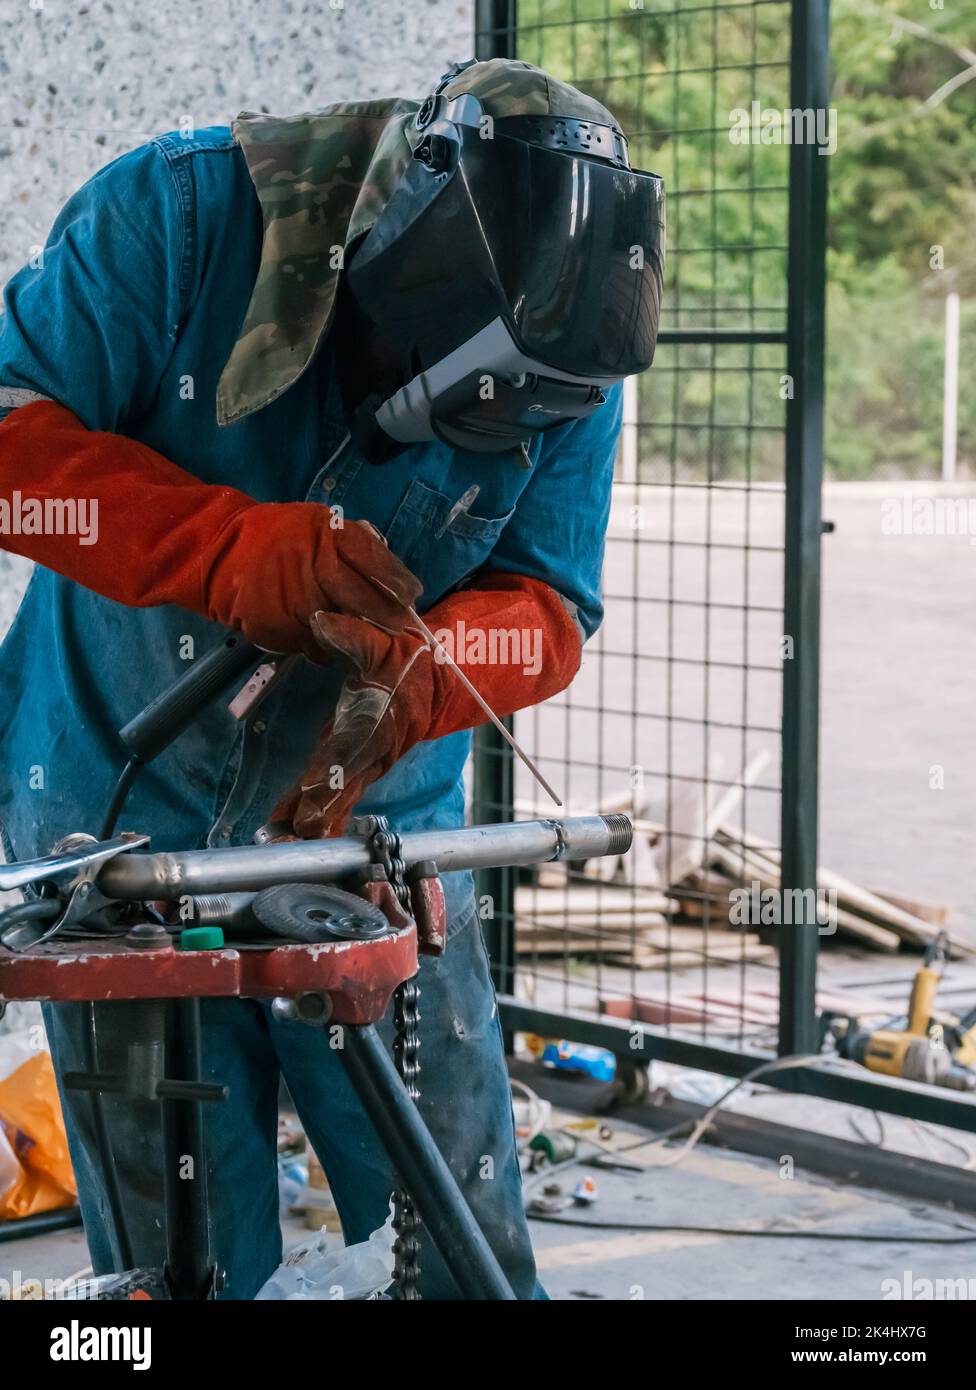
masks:
[[[478,694],[495,713],[513,714],[564,689],[580,666],[580,631],[563,599],[520,574],[491,574],[475,584],[424,621]],[[418,631],[389,634],[327,613],[317,613],[313,627],[352,674],[299,785],[271,813],[277,837],[289,828],[304,840],[341,834],[366,788],[414,744],[485,723]]]

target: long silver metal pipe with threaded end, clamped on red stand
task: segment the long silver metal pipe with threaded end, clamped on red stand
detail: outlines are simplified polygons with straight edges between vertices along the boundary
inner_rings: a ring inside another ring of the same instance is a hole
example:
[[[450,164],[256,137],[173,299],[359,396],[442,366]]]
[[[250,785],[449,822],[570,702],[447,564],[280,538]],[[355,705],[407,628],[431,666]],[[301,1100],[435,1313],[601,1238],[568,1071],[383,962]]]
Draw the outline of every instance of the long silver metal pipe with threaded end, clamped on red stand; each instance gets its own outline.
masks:
[[[400,835],[409,869],[434,859],[439,873],[538,865],[553,859],[598,859],[624,853],[634,827],[627,816],[571,816],[566,820],[516,820],[460,830],[420,830]],[[367,869],[366,840],[302,840],[279,845],[232,845],[182,853],[121,855],[107,863],[97,885],[110,898],[172,901],[204,892],[271,888],[279,883],[332,883]]]

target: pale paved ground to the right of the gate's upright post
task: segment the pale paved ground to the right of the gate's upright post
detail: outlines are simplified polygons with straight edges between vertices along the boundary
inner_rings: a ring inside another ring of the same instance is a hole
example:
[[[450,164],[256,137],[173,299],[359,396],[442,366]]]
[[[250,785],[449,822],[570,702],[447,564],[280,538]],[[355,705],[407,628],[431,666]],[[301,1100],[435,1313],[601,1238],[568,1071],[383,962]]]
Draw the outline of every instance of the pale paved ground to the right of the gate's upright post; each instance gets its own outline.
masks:
[[[823,859],[972,927],[976,535],[883,535],[881,505],[826,503]]]

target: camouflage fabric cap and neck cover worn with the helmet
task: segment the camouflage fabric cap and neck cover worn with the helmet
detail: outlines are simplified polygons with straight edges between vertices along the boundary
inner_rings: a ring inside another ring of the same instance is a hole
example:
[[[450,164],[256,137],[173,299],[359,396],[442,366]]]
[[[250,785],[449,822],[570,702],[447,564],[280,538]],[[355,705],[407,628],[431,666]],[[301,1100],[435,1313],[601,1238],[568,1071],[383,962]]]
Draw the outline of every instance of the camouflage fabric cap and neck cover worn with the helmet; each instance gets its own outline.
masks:
[[[560,115],[616,125],[599,101],[541,68],[492,58],[442,90],[471,93],[487,115]],[[328,332],[345,247],[377,221],[413,158],[418,101],[348,101],[302,115],[243,111],[232,125],[264,217],[257,279],[217,385],[217,423],[277,400]]]

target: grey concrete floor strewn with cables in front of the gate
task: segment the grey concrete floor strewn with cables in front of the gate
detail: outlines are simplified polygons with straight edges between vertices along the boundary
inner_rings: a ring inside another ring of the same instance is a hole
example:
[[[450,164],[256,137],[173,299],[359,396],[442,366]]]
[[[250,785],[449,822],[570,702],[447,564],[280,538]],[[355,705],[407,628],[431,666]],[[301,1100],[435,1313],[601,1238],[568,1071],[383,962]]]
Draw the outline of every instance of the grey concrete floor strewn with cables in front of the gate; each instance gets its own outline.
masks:
[[[571,1119],[570,1115],[560,1118]],[[648,1138],[645,1129],[613,1120],[620,1148]],[[553,1300],[863,1300],[891,1295],[911,1279],[968,1279],[976,1248],[976,1218],[861,1187],[837,1186],[797,1172],[790,1180],[773,1161],[706,1145],[677,1168],[662,1166],[673,1150],[634,1148],[624,1162],[635,1172],[573,1166],[552,1175],[570,1193],[584,1173],[599,1198],[559,1215],[580,1225],[532,1220],[539,1277]],[[538,1179],[530,1177],[532,1188]],[[531,1195],[531,1194],[530,1194]],[[601,1230],[601,1222],[621,1229]],[[731,1227],[754,1234],[640,1227]],[[780,1233],[780,1234],[773,1234]],[[783,1238],[781,1233],[790,1233]],[[890,1240],[838,1241],[888,1236]],[[938,1245],[973,1236],[972,1244]],[[286,1245],[307,1238],[286,1223]],[[86,1265],[79,1232],[0,1245],[0,1273],[64,1277]]]

